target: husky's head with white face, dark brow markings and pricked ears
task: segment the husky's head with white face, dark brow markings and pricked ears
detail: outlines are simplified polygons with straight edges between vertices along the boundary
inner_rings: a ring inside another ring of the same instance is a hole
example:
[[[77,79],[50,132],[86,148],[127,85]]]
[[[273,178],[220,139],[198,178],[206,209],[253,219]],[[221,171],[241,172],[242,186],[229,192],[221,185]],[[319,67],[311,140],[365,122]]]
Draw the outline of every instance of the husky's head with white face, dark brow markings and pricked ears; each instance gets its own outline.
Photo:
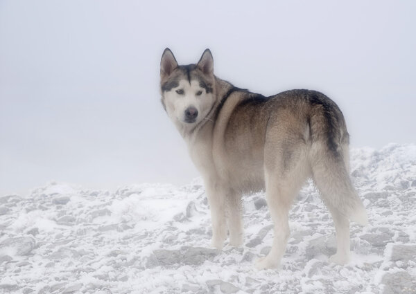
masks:
[[[162,104],[168,116],[182,127],[203,120],[215,103],[214,60],[206,49],[197,64],[178,65],[166,48],[160,62]]]

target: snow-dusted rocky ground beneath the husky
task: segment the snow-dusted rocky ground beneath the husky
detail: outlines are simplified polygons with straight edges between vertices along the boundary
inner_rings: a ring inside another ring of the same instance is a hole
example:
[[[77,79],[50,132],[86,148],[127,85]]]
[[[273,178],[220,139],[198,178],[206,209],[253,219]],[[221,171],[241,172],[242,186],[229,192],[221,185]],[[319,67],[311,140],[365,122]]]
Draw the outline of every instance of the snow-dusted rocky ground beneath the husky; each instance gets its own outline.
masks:
[[[219,252],[198,181],[116,192],[50,183],[0,196],[0,293],[416,293],[416,145],[351,157],[370,226],[352,225],[347,266],[329,264],[333,223],[311,183],[291,210],[281,267],[262,271],[263,193],[244,197],[245,245]]]

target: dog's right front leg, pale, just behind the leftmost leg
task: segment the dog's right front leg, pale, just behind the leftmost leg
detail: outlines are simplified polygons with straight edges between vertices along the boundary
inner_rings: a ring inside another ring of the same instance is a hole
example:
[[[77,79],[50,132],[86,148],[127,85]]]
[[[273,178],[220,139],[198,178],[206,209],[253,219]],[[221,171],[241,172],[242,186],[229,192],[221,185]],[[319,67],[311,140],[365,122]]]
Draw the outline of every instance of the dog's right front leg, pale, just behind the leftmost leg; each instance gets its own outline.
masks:
[[[227,194],[227,225],[229,230],[229,245],[241,246],[243,244],[243,219],[241,194],[234,191]]]

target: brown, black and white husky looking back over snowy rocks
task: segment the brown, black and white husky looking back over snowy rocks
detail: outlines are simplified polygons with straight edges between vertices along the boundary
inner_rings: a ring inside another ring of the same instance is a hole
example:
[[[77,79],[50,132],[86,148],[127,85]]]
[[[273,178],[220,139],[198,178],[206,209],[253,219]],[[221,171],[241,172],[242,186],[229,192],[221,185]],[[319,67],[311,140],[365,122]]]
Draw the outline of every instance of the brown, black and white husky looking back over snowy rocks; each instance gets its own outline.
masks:
[[[349,220],[367,214],[349,178],[349,134],[343,113],[324,94],[291,90],[265,97],[214,75],[209,49],[197,64],[178,65],[166,48],[160,67],[162,104],[186,141],[202,175],[211,210],[211,245],[243,243],[241,194],[266,190],[274,223],[269,254],[258,269],[275,268],[289,237],[288,212],[312,178],[331,212],[337,250],[330,261],[349,260]]]

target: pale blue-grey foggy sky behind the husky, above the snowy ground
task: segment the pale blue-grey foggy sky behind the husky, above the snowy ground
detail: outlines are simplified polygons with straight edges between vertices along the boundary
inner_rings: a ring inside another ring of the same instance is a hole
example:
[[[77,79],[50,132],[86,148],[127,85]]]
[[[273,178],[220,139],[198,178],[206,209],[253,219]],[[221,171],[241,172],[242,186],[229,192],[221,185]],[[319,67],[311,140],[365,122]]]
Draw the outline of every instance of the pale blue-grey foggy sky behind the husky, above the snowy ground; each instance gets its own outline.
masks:
[[[159,60],[329,95],[352,147],[415,143],[415,1],[0,0],[0,195],[198,176],[159,102]]]

